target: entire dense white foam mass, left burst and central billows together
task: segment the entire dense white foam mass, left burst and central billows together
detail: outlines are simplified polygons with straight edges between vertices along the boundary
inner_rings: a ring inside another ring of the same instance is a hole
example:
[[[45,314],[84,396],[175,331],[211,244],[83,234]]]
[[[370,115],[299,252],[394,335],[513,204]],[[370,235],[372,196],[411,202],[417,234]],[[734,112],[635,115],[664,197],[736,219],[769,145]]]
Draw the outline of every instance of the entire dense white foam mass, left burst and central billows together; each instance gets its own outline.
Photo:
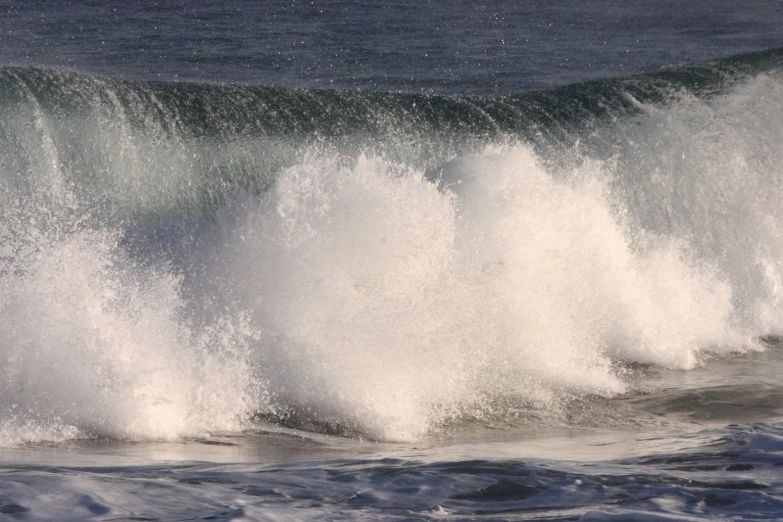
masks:
[[[622,393],[617,361],[747,347],[728,282],[682,240],[642,240],[610,182],[526,146],[429,176],[313,153],[226,206],[185,290],[116,234],[39,239],[2,277],[4,439],[171,438],[256,412],[412,439],[502,416],[500,398]]]

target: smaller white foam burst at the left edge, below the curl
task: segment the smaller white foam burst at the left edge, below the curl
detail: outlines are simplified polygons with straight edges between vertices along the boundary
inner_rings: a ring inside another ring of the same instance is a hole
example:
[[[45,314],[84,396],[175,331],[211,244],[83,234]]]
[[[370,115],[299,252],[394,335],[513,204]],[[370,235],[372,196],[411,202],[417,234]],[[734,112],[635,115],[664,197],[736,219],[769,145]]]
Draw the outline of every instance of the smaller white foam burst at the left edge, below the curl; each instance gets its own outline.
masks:
[[[38,244],[0,278],[0,444],[172,438],[240,426],[257,408],[244,346],[223,323],[182,324],[176,276],[124,256],[116,237]]]

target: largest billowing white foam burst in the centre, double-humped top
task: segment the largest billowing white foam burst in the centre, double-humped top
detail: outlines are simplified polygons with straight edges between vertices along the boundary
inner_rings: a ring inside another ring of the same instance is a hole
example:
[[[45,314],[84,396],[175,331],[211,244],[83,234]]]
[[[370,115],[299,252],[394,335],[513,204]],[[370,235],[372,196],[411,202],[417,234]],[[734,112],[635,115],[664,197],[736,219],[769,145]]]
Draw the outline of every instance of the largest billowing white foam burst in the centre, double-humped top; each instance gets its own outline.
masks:
[[[632,246],[606,176],[555,177],[524,146],[436,180],[315,155],[224,214],[214,266],[260,328],[279,403],[380,438],[491,397],[620,393],[618,360],[688,369],[742,349],[729,284],[682,242]]]

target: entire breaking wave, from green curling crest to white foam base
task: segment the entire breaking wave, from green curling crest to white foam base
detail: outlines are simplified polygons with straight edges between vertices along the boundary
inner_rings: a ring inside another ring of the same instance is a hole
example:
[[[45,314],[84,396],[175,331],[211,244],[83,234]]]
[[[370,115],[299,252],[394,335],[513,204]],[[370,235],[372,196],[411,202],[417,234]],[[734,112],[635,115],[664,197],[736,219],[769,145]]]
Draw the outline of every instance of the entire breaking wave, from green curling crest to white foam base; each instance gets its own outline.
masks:
[[[782,66],[494,98],[0,69],[0,443],[561,422],[762,350]]]

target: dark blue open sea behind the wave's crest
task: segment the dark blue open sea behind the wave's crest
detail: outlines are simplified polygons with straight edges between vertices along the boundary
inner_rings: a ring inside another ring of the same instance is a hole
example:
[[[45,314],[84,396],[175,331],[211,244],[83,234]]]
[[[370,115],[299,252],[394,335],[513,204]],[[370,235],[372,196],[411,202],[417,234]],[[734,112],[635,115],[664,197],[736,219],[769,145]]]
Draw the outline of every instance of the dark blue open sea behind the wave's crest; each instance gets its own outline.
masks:
[[[495,94],[778,47],[783,4],[3,2],[0,62],[145,80]]]

